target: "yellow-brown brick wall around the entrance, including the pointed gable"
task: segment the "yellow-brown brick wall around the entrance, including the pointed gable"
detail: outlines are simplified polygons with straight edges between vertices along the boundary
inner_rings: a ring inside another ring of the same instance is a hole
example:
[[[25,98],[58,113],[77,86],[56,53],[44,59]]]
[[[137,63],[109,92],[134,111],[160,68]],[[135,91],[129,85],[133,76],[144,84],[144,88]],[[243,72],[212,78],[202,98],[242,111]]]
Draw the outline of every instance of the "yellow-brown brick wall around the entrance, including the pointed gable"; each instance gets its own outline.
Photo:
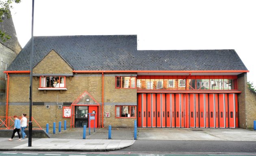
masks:
[[[44,102],[44,105],[33,105],[32,115],[35,121],[41,126],[46,124],[52,126],[59,121],[67,121],[70,126],[70,118],[63,118],[63,109],[58,105],[63,102],[74,102],[82,93],[87,91],[99,104],[100,118],[99,124],[102,126],[102,73],[82,73],[73,74],[72,68],[52,50],[42,61],[33,69],[33,102]],[[66,77],[67,90],[39,90],[40,74],[69,74]],[[70,76],[73,74],[73,76]],[[122,75],[122,74],[120,74]],[[9,107],[8,116],[22,113],[29,115],[29,74],[10,74],[9,76]],[[115,118],[115,105],[137,104],[136,89],[116,89],[115,75],[104,74],[104,125],[111,124],[113,127],[132,127],[136,118]],[[46,109],[46,105],[50,105]],[[105,113],[110,112],[111,117],[106,118]],[[37,124],[33,122],[33,126]],[[63,124],[62,124],[63,125]]]

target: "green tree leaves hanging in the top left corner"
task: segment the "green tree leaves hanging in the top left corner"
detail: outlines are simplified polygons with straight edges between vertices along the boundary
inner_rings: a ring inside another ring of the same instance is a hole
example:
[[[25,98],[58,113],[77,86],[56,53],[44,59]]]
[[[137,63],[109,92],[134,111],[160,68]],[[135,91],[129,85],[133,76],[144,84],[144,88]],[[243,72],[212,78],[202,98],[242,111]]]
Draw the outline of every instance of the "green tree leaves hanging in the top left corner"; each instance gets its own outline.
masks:
[[[7,19],[11,17],[10,8],[13,8],[13,6],[11,5],[13,2],[20,3],[21,0],[0,0],[0,22],[3,22],[3,17],[7,17]],[[11,38],[3,30],[0,30],[0,37],[3,42]]]

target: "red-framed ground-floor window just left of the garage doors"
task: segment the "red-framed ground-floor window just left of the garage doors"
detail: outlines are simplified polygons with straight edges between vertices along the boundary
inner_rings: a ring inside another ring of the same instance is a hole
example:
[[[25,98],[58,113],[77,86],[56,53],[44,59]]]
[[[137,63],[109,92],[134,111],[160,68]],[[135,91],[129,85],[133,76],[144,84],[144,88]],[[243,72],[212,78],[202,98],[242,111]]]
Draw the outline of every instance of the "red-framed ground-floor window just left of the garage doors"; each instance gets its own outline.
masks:
[[[115,117],[136,117],[136,106],[115,106]]]

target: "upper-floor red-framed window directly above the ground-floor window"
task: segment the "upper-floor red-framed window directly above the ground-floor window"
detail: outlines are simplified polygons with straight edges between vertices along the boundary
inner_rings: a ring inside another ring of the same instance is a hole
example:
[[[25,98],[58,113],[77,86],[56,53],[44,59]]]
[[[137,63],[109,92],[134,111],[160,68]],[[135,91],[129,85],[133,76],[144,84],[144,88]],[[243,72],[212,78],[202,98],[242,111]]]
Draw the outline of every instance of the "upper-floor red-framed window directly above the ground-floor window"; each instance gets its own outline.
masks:
[[[136,88],[136,77],[131,76],[116,76],[116,88]]]

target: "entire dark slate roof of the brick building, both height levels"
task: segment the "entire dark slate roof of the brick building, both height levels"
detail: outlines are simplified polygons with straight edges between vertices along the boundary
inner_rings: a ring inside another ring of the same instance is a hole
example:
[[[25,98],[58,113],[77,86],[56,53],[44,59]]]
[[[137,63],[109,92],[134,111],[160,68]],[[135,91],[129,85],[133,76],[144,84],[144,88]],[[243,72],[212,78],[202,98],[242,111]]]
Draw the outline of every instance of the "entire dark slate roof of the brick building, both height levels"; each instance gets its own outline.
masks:
[[[29,71],[30,48],[7,71]],[[77,71],[247,70],[234,50],[137,50],[137,35],[34,37],[33,66],[52,49]]]

